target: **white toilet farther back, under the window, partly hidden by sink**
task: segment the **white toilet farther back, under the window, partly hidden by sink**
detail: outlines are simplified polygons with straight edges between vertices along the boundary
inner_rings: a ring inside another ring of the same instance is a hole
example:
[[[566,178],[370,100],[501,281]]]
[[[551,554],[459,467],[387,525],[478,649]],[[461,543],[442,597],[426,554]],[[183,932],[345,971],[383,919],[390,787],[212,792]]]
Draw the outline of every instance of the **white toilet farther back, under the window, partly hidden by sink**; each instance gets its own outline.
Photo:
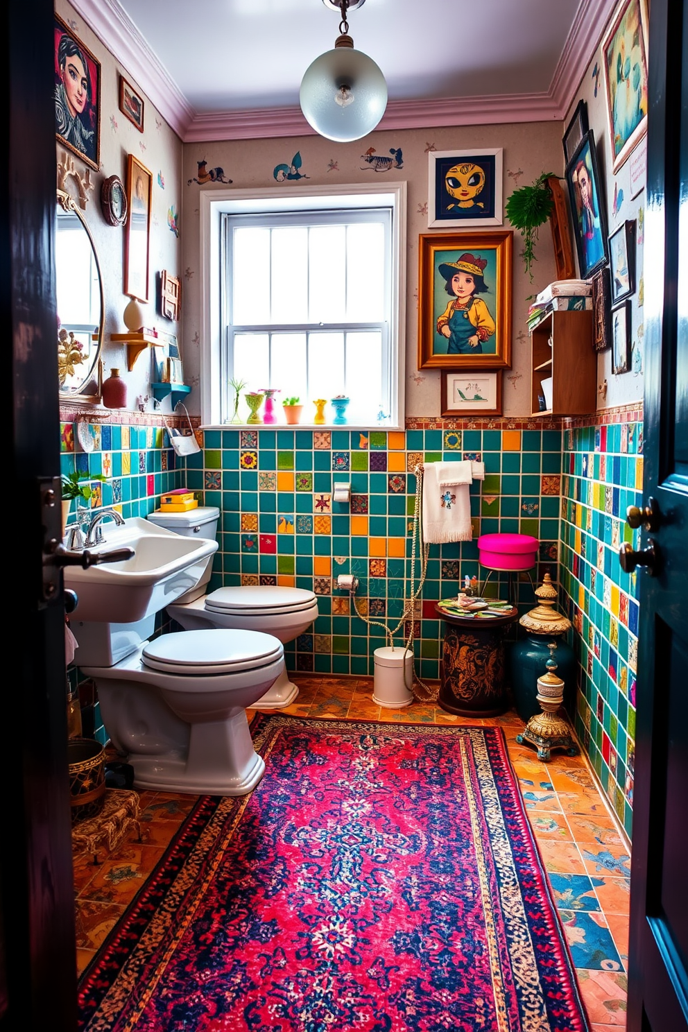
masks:
[[[185,537],[216,537],[220,510],[207,506],[186,513],[151,513],[157,526]],[[283,644],[302,635],[318,617],[318,598],[303,588],[275,585],[221,587],[203,594],[210,577],[201,580],[193,591],[167,606],[167,613],[188,631],[203,627],[260,631],[273,635]],[[254,709],[284,709],[298,696],[298,687],[289,679],[286,668],[269,690],[254,704]]]

